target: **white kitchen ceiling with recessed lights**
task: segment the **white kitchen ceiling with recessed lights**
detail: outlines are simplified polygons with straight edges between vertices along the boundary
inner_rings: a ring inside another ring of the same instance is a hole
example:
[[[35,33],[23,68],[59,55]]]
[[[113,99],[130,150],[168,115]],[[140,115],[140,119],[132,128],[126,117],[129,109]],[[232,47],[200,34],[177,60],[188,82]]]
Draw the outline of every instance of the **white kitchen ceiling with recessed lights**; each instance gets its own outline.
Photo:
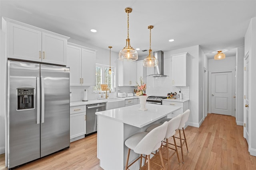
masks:
[[[148,55],[142,52],[149,49],[148,25],[154,25],[152,51],[200,45],[209,59],[219,49],[235,56],[256,17],[256,0],[0,0],[1,16],[117,53],[126,45],[126,7],[132,8],[129,37],[139,56]]]

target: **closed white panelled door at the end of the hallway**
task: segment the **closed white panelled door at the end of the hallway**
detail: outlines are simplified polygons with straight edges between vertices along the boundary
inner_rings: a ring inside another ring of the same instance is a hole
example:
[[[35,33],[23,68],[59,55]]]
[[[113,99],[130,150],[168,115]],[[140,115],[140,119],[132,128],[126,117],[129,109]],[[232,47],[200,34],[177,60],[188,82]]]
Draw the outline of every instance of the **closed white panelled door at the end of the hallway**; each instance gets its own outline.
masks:
[[[232,113],[232,72],[211,74],[212,113],[231,115]]]

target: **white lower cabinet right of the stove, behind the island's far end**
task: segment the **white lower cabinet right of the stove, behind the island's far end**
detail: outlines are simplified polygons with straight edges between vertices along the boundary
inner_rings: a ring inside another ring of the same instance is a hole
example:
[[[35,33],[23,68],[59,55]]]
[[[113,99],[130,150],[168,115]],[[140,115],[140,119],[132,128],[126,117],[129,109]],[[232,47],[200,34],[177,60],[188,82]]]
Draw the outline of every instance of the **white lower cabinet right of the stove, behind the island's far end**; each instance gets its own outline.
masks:
[[[172,114],[168,115],[168,118],[174,118],[179,114],[182,114],[186,109],[188,109],[188,100],[185,102],[173,102],[173,101],[162,101],[162,105],[166,106],[175,106],[175,107],[181,107],[180,109],[172,112]]]

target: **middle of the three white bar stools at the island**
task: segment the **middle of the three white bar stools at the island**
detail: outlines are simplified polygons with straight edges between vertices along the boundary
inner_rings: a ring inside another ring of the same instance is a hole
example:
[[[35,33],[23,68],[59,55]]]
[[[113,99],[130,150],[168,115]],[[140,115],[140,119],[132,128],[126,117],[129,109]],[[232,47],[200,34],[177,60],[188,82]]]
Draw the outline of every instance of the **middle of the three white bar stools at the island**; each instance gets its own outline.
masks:
[[[178,129],[179,125],[180,125],[180,120],[181,120],[181,115],[178,115],[176,117],[174,117],[173,119],[170,119],[170,121],[168,121],[168,128],[167,128],[167,131],[166,131],[166,135],[165,135],[165,139],[166,139],[166,145],[162,145],[164,147],[166,147],[167,149],[167,158],[163,158],[164,160],[167,160],[168,161],[168,169],[170,168],[170,159],[172,158],[172,156],[175,154],[177,154],[177,157],[178,157],[178,161],[179,161],[179,164],[180,164],[180,158],[179,158],[179,154],[178,154],[178,149],[177,149],[177,145],[176,145],[176,140],[175,140],[175,133],[176,133],[176,130]],[[162,125],[162,123],[157,123],[157,124],[154,124],[150,127],[148,127],[148,129],[146,130],[147,132],[150,132],[152,131],[154,128],[158,127],[159,125]],[[174,144],[171,144],[169,143],[168,139],[170,137],[173,137],[173,140],[174,140]],[[174,145],[175,146],[175,149],[171,148],[170,145]],[[172,149],[174,150],[175,152],[173,152],[171,155],[169,155],[169,149]],[[155,154],[157,155],[157,154]]]

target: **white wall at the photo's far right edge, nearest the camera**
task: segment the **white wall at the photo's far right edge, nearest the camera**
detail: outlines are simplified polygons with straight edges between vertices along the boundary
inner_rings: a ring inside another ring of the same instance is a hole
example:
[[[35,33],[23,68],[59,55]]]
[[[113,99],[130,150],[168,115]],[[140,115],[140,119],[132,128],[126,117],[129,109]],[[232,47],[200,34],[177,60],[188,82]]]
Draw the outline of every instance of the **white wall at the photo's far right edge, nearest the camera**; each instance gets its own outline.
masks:
[[[256,156],[256,18],[252,18],[250,25],[247,29],[244,37],[244,55],[249,54],[249,140],[248,140],[248,151],[251,155]]]

